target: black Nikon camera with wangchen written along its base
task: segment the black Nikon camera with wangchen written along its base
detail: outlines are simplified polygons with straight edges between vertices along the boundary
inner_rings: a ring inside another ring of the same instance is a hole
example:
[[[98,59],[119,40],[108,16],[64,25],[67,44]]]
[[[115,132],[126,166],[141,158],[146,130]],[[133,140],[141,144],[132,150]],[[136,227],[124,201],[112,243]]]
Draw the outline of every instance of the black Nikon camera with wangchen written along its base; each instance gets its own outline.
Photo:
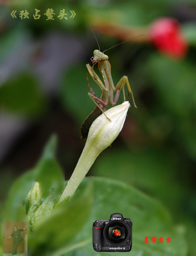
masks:
[[[131,220],[113,213],[109,220],[93,221],[92,243],[95,251],[131,251]]]

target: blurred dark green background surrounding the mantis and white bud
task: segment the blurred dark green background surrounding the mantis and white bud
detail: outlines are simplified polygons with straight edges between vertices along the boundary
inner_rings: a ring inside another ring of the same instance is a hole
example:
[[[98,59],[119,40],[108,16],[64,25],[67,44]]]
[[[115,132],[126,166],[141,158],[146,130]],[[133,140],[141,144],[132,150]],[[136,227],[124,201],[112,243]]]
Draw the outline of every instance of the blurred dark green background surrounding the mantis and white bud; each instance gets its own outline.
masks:
[[[154,19],[174,17],[188,43],[182,59],[163,55],[148,42],[126,42],[107,52],[114,84],[128,76],[136,105],[118,138],[90,169],[90,176],[126,182],[159,199],[182,223],[188,255],[194,248],[196,189],[196,5],[194,1],[1,1],[0,75],[1,200],[16,178],[35,166],[52,134],[56,158],[69,179],[82,152],[80,126],[95,105],[88,97],[86,64],[98,48],[89,23],[145,29]],[[40,19],[34,20],[35,8]],[[54,20],[46,20],[48,8]],[[58,19],[65,9],[66,19]],[[17,10],[17,18],[11,12]],[[27,10],[29,19],[20,19]],[[76,13],[71,17],[70,10]],[[96,33],[100,50],[120,43]],[[138,30],[138,35],[141,34]],[[99,75],[98,67],[95,72]],[[100,88],[91,79],[98,96]],[[122,95],[118,103],[123,101]],[[101,216],[100,216],[101,217]],[[109,216],[108,216],[109,217]],[[125,216],[129,217],[129,216]]]

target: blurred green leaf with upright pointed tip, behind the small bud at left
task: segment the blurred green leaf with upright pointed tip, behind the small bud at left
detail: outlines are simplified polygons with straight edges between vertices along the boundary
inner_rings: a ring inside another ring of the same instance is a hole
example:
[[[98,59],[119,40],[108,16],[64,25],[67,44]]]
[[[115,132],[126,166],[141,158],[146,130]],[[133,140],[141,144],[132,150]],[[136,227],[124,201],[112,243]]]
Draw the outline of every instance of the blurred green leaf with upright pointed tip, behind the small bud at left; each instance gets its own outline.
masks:
[[[52,136],[36,167],[24,173],[14,182],[5,203],[5,221],[19,221],[16,219],[16,216],[19,216],[17,212],[19,211],[20,204],[25,204],[25,199],[36,181],[39,182],[42,199],[48,196],[52,187],[54,187],[55,190],[55,197],[58,197],[63,191],[65,186],[64,174],[54,156],[56,143],[56,136]],[[31,206],[32,205],[27,205],[26,207],[30,209]]]

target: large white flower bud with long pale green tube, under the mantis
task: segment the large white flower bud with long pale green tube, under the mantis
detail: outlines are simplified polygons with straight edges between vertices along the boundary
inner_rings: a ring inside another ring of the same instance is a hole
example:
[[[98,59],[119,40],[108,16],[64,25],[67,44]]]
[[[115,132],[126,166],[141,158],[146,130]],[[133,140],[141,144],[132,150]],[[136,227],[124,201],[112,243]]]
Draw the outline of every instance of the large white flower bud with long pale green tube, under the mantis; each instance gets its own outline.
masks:
[[[110,146],[119,135],[123,128],[129,107],[129,101],[125,101],[121,105],[117,105],[104,112],[111,122],[104,114],[101,114],[92,123],[85,147],[78,160],[76,168],[61,195],[60,201],[73,195],[101,151]]]

